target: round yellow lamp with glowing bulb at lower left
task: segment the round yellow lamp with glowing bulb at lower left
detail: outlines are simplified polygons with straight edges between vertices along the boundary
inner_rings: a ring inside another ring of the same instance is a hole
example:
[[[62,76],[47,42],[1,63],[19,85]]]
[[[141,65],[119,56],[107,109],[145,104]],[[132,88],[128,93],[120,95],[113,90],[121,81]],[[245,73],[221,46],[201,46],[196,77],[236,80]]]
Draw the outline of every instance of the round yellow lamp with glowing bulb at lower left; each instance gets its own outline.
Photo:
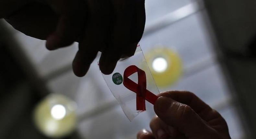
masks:
[[[38,130],[52,138],[71,134],[76,128],[76,103],[60,94],[50,94],[34,110]]]

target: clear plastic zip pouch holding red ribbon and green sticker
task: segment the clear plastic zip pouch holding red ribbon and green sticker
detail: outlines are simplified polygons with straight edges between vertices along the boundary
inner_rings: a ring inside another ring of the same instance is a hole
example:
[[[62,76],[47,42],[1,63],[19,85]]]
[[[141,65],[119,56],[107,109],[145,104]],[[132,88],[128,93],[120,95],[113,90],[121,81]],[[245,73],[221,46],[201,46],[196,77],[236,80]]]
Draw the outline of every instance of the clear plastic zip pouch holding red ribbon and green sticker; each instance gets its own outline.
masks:
[[[159,91],[140,45],[134,56],[118,61],[112,74],[102,75],[130,121],[157,100]]]

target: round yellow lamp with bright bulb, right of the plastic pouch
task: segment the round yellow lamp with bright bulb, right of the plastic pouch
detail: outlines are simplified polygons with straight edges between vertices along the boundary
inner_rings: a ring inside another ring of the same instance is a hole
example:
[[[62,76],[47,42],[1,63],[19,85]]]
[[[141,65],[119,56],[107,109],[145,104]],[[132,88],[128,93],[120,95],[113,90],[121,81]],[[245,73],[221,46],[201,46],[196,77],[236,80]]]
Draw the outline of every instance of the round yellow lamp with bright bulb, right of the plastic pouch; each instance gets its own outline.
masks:
[[[182,62],[172,49],[154,48],[145,53],[145,58],[158,87],[170,86],[180,78]]]

